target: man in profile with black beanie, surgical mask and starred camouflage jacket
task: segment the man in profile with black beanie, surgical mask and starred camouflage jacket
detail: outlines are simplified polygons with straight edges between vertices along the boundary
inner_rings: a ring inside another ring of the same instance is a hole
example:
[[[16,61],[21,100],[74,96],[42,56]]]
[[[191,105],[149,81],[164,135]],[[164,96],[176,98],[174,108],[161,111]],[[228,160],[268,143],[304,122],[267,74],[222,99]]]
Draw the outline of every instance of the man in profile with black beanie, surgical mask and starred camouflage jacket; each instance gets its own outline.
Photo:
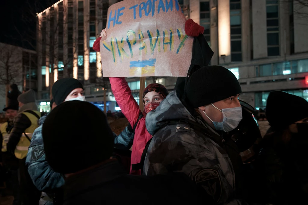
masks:
[[[241,86],[221,66],[191,66],[187,76],[184,95],[171,92],[146,117],[153,138],[144,174],[183,172],[205,189],[212,203],[241,204],[241,156],[225,136],[242,119]]]

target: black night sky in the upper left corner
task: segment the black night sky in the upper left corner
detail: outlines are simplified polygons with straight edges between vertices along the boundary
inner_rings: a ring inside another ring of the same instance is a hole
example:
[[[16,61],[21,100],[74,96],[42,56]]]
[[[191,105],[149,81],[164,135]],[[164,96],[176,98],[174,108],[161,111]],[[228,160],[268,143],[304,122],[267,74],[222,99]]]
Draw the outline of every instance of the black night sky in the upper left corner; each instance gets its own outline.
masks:
[[[0,42],[35,50],[36,13],[59,0],[1,0]]]

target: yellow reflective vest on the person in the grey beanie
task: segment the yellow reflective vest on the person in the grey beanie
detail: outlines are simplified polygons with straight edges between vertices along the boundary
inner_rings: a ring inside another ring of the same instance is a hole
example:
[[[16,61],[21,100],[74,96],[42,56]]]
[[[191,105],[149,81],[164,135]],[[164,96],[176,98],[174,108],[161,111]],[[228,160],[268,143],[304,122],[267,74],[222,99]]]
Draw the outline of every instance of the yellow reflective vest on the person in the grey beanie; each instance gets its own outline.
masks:
[[[39,117],[41,117],[41,113],[39,111],[36,111],[36,110],[32,110],[32,111],[36,113]],[[22,114],[26,115],[29,118],[29,120],[31,121],[31,125],[25,130],[25,133],[22,134],[15,148],[14,153],[15,153],[16,158],[18,159],[23,159],[27,156],[28,147],[30,146],[30,141],[27,139],[27,137],[29,137],[29,139],[31,140],[34,130],[39,127],[39,119],[36,116],[34,116],[31,113],[26,112],[26,110],[25,112],[22,112]]]

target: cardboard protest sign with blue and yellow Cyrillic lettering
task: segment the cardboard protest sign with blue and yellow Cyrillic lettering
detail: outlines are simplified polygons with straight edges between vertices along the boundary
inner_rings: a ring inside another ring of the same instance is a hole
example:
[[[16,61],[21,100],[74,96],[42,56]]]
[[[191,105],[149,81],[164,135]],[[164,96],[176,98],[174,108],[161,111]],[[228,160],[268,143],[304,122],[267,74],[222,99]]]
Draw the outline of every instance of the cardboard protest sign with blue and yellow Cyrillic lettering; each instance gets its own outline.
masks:
[[[125,0],[109,7],[100,42],[104,77],[186,76],[193,38],[177,0]]]

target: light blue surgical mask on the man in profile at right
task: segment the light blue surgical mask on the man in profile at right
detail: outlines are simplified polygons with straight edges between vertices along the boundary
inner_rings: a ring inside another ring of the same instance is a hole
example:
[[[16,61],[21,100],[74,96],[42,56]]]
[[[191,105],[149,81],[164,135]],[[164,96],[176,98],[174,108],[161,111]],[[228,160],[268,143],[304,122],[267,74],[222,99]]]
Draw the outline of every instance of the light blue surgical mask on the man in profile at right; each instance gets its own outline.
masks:
[[[211,104],[213,105],[213,104]],[[209,116],[203,111],[203,113],[206,115],[206,117],[209,118],[211,122],[213,122],[213,125],[216,130],[221,130],[224,132],[230,132],[233,129],[235,129],[240,121],[242,120],[242,107],[236,107],[236,108],[226,108],[226,109],[218,109],[213,105],[214,108],[222,112],[222,115],[224,116],[224,119],[222,122],[215,122],[212,121]]]

